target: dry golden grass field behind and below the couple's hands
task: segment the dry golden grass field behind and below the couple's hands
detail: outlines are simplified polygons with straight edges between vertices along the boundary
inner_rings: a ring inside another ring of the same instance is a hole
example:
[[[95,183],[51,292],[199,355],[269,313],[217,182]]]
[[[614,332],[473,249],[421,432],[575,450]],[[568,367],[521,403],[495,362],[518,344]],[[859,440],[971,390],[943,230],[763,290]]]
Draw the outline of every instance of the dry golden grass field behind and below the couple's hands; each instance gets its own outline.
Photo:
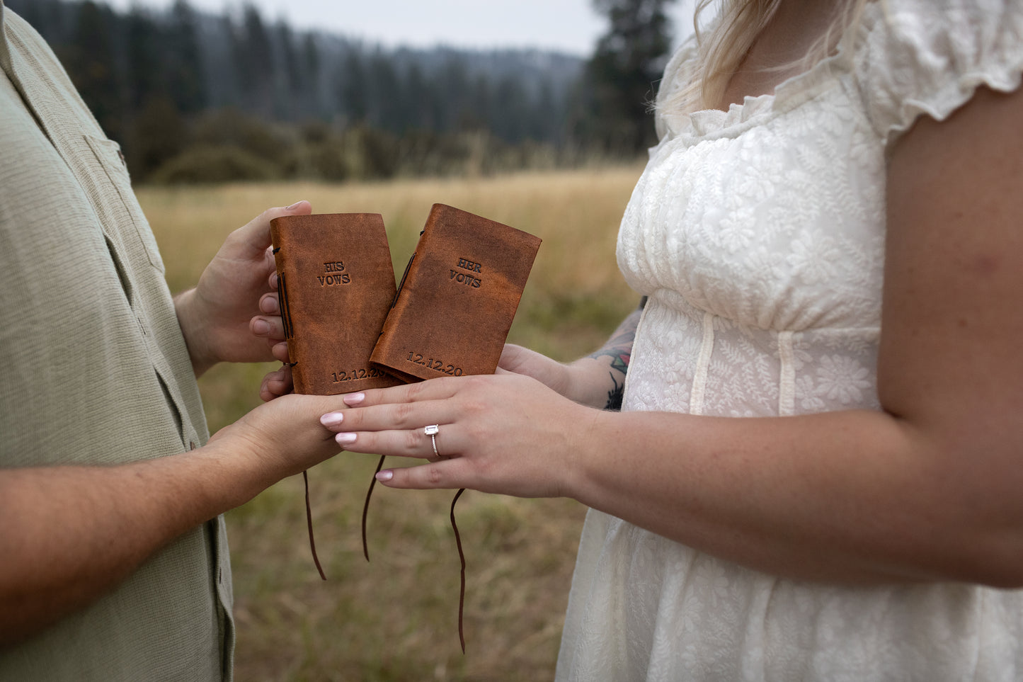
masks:
[[[639,172],[143,188],[139,197],[173,291],[195,282],[230,229],[300,199],[317,213],[382,213],[399,274],[435,202],[533,232],[543,245],[509,341],[568,360],[602,343],[637,302],[618,273],[614,245]],[[259,381],[270,369],[224,366],[202,379],[211,431],[259,402]],[[359,520],[375,459],[343,453],[309,472],[326,582],[310,556],[301,477],[227,515],[236,679],[550,679],[584,508],[568,500],[462,496],[456,510],[468,563],[462,655],[451,494],[377,486],[366,563]]]

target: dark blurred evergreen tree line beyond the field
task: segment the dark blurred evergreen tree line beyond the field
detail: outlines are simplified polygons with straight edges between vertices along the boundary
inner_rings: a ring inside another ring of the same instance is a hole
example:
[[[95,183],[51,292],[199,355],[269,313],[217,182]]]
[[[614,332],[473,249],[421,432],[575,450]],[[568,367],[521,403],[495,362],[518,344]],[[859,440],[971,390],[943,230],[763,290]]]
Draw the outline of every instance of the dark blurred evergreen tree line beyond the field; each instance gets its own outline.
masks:
[[[385,49],[187,0],[126,12],[5,0],[61,59],[135,181],[386,178],[631,157],[672,0],[594,0],[589,60],[540,50]]]

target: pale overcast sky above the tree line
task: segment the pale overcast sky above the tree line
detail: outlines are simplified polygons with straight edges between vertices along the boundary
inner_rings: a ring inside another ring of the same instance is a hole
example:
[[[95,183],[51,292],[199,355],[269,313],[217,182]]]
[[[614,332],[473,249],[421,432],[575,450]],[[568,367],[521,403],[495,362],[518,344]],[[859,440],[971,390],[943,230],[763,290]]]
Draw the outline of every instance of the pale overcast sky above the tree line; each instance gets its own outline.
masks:
[[[167,7],[172,0],[101,0],[120,9],[132,4]],[[220,13],[240,0],[188,0]],[[590,0],[250,0],[268,20],[296,29],[361,37],[387,46],[541,47],[588,55],[606,23]],[[687,35],[693,0],[670,9],[676,36]]]

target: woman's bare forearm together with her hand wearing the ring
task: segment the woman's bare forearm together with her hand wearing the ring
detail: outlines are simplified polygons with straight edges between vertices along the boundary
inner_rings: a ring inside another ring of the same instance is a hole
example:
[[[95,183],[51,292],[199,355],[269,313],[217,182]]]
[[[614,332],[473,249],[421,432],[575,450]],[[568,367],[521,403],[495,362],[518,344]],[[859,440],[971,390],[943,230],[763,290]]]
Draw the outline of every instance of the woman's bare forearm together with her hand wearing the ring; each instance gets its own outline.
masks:
[[[515,374],[344,401],[323,424],[346,450],[429,459],[435,444],[443,456],[381,471],[391,487],[571,497],[799,580],[1023,585],[1023,468],[1010,466],[1023,434],[971,415],[619,413]],[[433,444],[425,424],[440,425]]]

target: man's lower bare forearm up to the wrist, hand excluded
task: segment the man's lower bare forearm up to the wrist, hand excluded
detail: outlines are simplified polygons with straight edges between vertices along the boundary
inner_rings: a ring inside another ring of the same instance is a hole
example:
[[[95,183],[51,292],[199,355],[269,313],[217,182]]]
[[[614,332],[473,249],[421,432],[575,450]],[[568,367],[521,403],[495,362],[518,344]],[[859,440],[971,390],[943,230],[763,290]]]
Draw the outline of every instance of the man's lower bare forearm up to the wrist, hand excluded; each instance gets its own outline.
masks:
[[[119,466],[0,471],[0,646],[113,589],[259,489],[210,446]]]

